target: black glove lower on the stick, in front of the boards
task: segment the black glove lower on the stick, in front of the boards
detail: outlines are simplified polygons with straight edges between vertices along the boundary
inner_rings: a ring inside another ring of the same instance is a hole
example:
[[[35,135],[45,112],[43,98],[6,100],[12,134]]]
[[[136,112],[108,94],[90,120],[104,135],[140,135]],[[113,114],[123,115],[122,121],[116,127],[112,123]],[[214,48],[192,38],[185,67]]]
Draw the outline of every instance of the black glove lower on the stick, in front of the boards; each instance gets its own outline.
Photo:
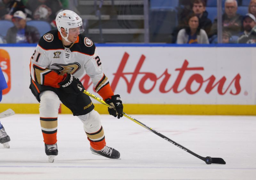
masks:
[[[118,119],[123,117],[123,104],[120,95],[116,94],[105,100],[110,106],[108,107],[108,113],[112,116],[117,116]]]

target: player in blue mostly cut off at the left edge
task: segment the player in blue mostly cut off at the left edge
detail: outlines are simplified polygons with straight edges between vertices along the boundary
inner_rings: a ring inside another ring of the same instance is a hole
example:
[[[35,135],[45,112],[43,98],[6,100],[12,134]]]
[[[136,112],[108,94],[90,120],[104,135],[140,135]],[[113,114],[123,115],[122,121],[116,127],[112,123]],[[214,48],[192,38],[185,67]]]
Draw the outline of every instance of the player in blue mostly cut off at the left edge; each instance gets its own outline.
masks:
[[[2,90],[6,89],[7,87],[8,86],[5,81],[3,71],[0,68],[0,102],[2,101],[2,95],[3,95]],[[10,148],[9,143],[8,143],[9,141],[10,141],[10,137],[5,132],[4,126],[0,122],[0,143],[3,144],[4,148]]]

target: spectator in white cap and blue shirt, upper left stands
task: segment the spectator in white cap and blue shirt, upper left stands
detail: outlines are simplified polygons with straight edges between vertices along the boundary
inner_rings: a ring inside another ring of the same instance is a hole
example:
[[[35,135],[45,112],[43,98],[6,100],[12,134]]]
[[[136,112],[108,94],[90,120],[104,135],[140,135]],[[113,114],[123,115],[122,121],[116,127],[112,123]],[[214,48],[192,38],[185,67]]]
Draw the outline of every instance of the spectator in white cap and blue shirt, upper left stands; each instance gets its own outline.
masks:
[[[14,26],[7,31],[7,43],[38,43],[40,34],[36,27],[26,25],[26,15],[22,11],[16,11],[12,21]]]

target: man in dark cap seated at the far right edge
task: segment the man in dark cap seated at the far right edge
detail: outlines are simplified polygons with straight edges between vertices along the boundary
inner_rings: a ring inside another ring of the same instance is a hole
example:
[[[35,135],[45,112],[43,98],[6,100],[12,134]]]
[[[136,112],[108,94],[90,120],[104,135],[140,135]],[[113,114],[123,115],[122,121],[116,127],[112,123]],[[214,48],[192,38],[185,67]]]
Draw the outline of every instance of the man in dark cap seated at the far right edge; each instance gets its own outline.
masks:
[[[255,44],[256,43],[256,18],[248,13],[244,16],[243,28],[244,34],[238,39],[238,43]]]

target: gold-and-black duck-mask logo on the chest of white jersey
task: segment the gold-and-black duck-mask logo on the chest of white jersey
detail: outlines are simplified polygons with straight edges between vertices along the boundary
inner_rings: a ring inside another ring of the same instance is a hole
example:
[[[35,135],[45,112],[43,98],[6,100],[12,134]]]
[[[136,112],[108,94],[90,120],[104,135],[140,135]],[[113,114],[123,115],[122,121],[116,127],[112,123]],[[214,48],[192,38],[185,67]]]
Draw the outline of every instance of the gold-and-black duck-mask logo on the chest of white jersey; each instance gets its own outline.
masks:
[[[54,70],[55,72],[58,73],[58,75],[64,75],[66,73],[69,74],[75,74],[80,68],[80,64],[78,64],[77,62],[74,63],[69,63],[69,64],[52,64],[51,66],[55,66],[56,69],[51,68],[51,70]]]

